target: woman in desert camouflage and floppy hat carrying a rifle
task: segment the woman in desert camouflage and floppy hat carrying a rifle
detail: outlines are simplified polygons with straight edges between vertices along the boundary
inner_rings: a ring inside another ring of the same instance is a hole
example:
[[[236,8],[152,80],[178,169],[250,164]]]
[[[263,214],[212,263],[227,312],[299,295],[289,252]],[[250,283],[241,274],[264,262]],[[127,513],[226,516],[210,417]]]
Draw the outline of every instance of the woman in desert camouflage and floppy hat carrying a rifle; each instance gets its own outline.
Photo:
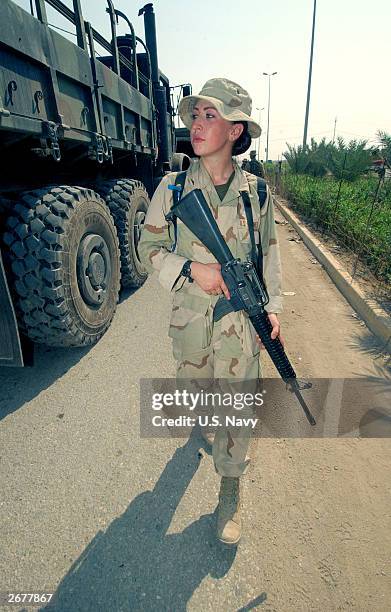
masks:
[[[219,229],[234,257],[250,257],[251,241],[240,192],[250,197],[255,241],[261,240],[264,281],[269,293],[266,307],[273,326],[272,338],[280,333],[276,313],[281,312],[280,258],[269,190],[260,209],[256,177],[243,172],[232,158],[246,151],[251,138],[261,134],[251,118],[251,98],[240,85],[227,79],[207,81],[197,96],[187,96],[179,105],[180,117],[190,130],[195,155],[199,157],[186,174],[183,195],[201,189]],[[139,255],[149,272],[157,270],[159,281],[173,294],[169,335],[179,378],[218,378],[256,381],[260,375],[259,342],[245,313],[234,312],[213,323],[213,307],[219,296],[229,299],[220,264],[178,219],[177,243],[165,215],[172,206],[176,174],[163,178],[150,204]],[[242,416],[242,415],[240,415]],[[221,541],[236,544],[241,535],[239,477],[249,459],[248,428],[237,435],[219,428],[213,441],[213,460],[221,475],[217,533]]]

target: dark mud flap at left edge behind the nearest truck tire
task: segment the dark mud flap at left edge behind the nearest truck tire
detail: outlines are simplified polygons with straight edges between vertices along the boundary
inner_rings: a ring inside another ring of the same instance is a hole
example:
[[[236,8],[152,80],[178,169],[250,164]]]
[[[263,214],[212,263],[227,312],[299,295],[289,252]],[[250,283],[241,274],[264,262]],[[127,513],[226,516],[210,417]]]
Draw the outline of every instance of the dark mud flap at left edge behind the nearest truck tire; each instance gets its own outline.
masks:
[[[0,366],[23,366],[22,345],[0,251]]]

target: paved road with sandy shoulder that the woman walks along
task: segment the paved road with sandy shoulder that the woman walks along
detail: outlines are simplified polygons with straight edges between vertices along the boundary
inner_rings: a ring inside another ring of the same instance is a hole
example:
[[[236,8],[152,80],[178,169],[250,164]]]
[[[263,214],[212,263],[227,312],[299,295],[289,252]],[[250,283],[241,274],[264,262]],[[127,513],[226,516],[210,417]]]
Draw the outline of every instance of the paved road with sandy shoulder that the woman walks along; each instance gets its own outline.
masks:
[[[279,235],[299,376],[387,376],[326,273],[288,225]],[[254,439],[244,536],[220,546],[197,434],[139,436],[140,378],[174,375],[168,317],[150,279],[97,346],[40,347],[34,368],[0,372],[0,591],[54,592],[64,612],[388,611],[390,440]]]

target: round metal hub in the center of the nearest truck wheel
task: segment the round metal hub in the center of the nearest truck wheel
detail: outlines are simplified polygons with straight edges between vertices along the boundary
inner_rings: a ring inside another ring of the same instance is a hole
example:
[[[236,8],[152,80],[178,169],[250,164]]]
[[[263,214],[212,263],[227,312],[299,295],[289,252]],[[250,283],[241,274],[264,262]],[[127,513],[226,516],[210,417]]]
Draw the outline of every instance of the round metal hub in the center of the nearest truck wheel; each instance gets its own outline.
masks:
[[[111,281],[111,262],[108,246],[102,236],[89,234],[81,240],[77,252],[77,281],[80,294],[87,304],[103,304]]]

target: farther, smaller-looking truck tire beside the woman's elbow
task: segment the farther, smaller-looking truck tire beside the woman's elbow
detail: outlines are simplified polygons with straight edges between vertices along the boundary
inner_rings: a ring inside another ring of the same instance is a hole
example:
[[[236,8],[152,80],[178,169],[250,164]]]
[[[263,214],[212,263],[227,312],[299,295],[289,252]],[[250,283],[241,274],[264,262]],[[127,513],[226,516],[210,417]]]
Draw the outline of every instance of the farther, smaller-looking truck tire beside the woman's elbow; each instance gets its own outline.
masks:
[[[121,251],[122,287],[141,287],[147,279],[137,245],[149,206],[148,193],[140,181],[115,179],[95,186],[106,200],[117,227]]]

